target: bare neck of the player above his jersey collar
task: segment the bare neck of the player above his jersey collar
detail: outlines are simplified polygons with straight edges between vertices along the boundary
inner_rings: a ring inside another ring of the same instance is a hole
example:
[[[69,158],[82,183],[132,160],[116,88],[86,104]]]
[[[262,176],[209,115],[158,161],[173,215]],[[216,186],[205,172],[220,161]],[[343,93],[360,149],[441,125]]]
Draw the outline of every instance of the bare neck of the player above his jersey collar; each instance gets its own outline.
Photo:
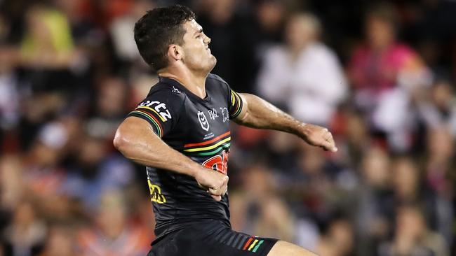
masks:
[[[189,70],[186,71],[159,71],[159,76],[177,80],[181,85],[196,96],[204,99],[206,97],[206,75],[197,75]]]

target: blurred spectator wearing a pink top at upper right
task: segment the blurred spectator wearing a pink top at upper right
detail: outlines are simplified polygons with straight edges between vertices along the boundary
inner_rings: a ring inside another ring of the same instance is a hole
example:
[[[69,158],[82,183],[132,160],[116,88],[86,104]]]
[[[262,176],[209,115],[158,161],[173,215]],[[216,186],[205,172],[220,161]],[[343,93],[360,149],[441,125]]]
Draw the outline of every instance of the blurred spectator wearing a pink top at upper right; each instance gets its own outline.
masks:
[[[366,43],[354,50],[348,67],[354,102],[373,131],[387,134],[391,149],[410,147],[410,99],[431,83],[431,73],[408,45],[396,41],[396,19],[389,6],[366,16]]]

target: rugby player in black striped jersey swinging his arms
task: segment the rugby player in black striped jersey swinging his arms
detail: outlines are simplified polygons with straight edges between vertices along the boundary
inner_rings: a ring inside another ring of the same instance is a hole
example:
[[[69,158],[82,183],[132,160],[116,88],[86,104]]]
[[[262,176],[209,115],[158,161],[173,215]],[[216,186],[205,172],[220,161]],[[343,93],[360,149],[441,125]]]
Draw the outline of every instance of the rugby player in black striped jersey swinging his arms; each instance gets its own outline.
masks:
[[[115,147],[147,166],[156,239],[149,256],[301,256],[286,241],[232,230],[227,194],[229,122],[295,134],[335,152],[328,129],[304,124],[211,74],[216,59],[195,14],[175,5],[135,24],[142,58],[159,76],[116,131]]]

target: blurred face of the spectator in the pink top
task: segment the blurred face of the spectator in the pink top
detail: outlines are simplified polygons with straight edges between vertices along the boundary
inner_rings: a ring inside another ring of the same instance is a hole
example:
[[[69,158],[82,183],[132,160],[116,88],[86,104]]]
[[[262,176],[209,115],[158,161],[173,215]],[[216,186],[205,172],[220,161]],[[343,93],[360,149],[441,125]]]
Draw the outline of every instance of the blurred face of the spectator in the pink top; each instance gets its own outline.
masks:
[[[373,50],[384,50],[394,41],[391,23],[371,15],[366,22],[366,36]]]

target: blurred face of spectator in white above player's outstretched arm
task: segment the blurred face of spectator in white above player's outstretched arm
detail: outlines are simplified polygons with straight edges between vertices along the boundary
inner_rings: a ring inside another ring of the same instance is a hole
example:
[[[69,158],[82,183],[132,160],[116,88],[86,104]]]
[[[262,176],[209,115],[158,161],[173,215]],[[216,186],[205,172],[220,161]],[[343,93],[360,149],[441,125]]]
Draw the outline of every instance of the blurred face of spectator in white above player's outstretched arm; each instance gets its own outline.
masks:
[[[302,14],[290,18],[286,24],[285,40],[292,50],[302,50],[318,34],[318,21],[312,15]]]

